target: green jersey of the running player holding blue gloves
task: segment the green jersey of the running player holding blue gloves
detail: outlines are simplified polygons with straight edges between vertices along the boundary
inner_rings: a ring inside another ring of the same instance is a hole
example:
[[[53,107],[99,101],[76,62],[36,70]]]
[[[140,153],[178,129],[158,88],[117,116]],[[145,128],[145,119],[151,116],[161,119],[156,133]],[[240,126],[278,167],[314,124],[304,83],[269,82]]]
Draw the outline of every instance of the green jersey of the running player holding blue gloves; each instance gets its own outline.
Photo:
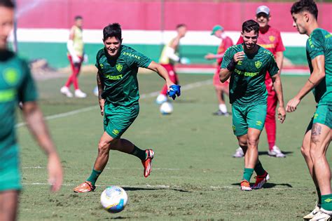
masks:
[[[137,72],[148,67],[151,59],[128,46],[120,46],[118,57],[110,58],[106,49],[97,53],[96,67],[104,83],[102,98],[113,105],[129,106],[139,100]]]

